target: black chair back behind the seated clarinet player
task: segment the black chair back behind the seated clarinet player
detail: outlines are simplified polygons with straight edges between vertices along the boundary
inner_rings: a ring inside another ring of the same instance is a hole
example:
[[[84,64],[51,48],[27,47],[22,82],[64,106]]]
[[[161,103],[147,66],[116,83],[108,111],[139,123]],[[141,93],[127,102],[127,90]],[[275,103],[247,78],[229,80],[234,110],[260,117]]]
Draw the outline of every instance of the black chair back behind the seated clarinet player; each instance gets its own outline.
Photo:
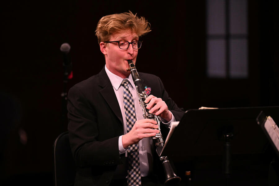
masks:
[[[56,138],[53,148],[55,186],[74,185],[76,168],[70,148],[68,131],[63,132]]]

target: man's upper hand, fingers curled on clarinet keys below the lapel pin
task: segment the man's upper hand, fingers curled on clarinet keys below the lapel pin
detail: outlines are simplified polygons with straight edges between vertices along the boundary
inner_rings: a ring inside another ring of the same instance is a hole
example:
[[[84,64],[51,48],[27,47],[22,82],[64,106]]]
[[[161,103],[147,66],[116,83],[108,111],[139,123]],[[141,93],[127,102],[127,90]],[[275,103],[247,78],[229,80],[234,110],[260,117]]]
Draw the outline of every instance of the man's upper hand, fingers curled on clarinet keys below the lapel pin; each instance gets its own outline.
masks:
[[[162,117],[167,122],[171,120],[172,114],[169,111],[165,101],[163,101],[161,98],[157,98],[154,95],[149,95],[144,102],[149,102],[146,107],[147,109],[151,108],[149,113],[155,113],[156,116]]]

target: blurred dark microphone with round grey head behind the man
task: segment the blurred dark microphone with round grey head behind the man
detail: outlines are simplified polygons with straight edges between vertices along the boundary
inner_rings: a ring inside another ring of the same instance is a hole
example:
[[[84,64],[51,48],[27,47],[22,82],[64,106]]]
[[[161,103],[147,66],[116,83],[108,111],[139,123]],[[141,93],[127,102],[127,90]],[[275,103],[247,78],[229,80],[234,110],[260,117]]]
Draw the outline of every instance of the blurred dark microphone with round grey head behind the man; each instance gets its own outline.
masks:
[[[70,60],[69,52],[71,50],[71,46],[69,43],[63,43],[60,47],[60,51],[63,52],[64,56],[64,81],[73,78],[73,71],[72,71],[72,62]]]

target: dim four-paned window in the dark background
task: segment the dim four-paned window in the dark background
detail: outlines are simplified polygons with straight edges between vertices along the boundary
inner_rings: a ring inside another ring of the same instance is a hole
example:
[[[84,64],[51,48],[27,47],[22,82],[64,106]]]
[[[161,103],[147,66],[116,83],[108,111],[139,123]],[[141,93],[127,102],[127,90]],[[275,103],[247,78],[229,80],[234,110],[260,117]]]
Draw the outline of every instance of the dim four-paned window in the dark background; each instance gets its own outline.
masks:
[[[209,78],[248,78],[246,0],[206,1],[206,60]]]

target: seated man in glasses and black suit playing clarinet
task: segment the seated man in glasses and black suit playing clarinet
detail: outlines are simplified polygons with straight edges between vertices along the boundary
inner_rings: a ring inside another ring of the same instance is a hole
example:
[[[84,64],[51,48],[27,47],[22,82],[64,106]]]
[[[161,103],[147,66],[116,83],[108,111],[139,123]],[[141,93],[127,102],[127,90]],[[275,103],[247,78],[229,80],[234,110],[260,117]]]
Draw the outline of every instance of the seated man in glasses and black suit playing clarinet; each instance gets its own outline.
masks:
[[[101,72],[69,90],[69,138],[77,165],[75,185],[155,185],[159,159],[153,139],[159,131],[154,120],[144,119],[128,61],[136,63],[139,37],[149,23],[129,13],[100,19],[96,36],[104,54]],[[139,73],[151,94],[145,100],[150,113],[165,126],[179,121],[184,111],[168,97],[161,80]],[[161,125],[161,126],[162,126]],[[166,137],[166,136],[165,136]],[[153,161],[154,159],[154,161]],[[162,175],[164,177],[164,175]]]

